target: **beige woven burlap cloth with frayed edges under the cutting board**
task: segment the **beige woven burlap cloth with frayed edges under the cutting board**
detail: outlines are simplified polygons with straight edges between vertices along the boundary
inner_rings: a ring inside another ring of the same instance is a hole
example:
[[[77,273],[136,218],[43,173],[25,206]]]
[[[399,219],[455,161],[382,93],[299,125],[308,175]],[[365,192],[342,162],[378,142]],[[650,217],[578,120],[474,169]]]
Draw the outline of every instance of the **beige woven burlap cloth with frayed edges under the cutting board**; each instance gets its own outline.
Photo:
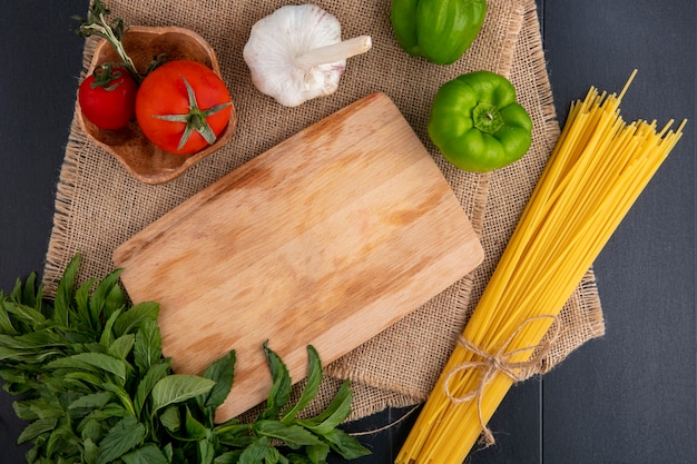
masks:
[[[67,263],[82,255],[80,279],[114,269],[111,254],[148,226],[225,174],[320,119],[375,91],[392,98],[448,179],[484,246],[485,261],[421,308],[326,367],[318,398],[338,379],[352,381],[352,418],[385,407],[423,402],[461,334],[559,135],[533,0],[490,0],[483,29],[465,56],[436,66],[403,52],[390,24],[387,0],[318,0],[337,17],[344,39],[370,34],[373,48],[348,60],[338,90],[286,108],[253,86],[242,50],[252,26],[284,0],[108,0],[112,17],[131,26],[179,26],[215,49],[233,96],[238,126],[230,141],[181,177],[159,186],[141,184],[97,147],[73,120],[57,188],[56,214],[45,267],[49,293]],[[95,40],[86,41],[87,68]],[[443,160],[426,135],[436,89],[460,73],[487,69],[508,76],[534,122],[528,155],[492,174],[463,172]],[[82,75],[84,76],[84,75]],[[540,363],[544,373],[586,340],[603,333],[592,270],[561,313],[561,336]],[[321,355],[321,354],[320,354]]]

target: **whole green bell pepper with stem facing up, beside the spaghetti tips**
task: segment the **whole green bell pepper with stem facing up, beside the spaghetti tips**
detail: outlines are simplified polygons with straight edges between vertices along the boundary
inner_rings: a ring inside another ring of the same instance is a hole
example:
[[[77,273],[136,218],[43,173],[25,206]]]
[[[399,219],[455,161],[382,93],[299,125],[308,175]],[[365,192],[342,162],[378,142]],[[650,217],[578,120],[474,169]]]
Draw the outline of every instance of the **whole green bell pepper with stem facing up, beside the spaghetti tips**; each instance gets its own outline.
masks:
[[[475,71],[445,82],[435,93],[429,136],[460,169],[489,171],[519,160],[532,141],[532,120],[503,76]]]

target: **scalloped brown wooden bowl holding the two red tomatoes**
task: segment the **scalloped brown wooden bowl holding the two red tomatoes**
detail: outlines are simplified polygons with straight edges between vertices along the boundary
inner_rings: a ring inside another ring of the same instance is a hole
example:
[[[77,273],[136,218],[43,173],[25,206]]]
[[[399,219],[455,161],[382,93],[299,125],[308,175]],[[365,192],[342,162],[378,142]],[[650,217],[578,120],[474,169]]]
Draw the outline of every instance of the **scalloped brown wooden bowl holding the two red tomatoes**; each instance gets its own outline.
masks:
[[[177,27],[134,26],[124,34],[124,48],[140,72],[148,69],[153,59],[161,53],[168,60],[186,59],[198,61],[220,76],[220,67],[213,48],[196,32]],[[104,62],[120,61],[118,55],[106,40],[99,42],[90,63],[89,72]],[[223,147],[232,137],[237,117],[233,106],[225,131],[215,144],[193,155],[175,155],[150,142],[136,121],[117,130],[100,129],[84,116],[79,109],[77,117],[88,137],[114,155],[136,179],[146,184],[164,184],[179,177],[212,152]]]

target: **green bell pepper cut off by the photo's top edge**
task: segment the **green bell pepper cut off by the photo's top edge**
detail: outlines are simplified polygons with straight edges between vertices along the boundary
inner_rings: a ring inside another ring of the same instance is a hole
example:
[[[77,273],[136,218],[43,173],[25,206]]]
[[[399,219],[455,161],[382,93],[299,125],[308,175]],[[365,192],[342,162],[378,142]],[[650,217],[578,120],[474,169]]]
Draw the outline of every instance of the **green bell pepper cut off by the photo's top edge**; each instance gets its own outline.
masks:
[[[485,16],[487,0],[392,0],[390,13],[400,47],[436,65],[455,62]]]

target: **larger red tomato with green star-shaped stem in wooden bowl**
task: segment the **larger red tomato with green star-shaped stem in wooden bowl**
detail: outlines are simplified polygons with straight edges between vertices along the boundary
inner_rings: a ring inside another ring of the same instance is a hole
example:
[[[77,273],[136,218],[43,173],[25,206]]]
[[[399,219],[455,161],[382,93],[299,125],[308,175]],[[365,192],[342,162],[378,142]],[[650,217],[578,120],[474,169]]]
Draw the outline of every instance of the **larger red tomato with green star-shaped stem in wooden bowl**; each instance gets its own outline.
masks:
[[[208,67],[189,60],[169,61],[151,71],[136,96],[136,118],[156,146],[190,155],[223,134],[232,99],[223,80]]]

